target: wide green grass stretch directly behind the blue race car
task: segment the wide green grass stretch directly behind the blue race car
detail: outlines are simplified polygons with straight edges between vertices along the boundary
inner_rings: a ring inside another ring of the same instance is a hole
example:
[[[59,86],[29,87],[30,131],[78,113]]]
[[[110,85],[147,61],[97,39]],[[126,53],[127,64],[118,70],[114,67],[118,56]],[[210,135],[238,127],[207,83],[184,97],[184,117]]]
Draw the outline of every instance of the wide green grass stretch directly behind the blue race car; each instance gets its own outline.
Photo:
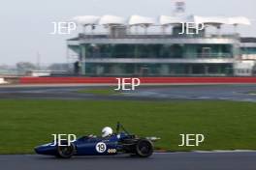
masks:
[[[158,136],[171,151],[256,149],[256,104],[237,101],[0,100],[0,154],[31,154],[52,133],[99,134],[120,121]],[[178,147],[180,133],[202,133],[199,147]]]

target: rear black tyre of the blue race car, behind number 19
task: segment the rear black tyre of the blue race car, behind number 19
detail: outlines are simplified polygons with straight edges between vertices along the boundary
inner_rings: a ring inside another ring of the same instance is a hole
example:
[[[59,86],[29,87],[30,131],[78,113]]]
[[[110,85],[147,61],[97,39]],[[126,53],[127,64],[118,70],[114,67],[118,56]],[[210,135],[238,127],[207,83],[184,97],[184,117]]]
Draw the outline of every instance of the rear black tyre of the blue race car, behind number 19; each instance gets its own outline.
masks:
[[[136,144],[136,155],[140,157],[148,157],[153,154],[153,144],[147,139],[141,139]]]

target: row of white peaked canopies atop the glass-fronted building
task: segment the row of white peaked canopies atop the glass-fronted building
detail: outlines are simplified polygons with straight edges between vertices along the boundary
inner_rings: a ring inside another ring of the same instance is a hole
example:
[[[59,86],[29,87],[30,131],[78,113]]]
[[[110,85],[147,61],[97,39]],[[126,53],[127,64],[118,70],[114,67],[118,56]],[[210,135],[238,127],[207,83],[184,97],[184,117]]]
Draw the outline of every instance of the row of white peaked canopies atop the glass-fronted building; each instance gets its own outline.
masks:
[[[199,15],[186,15],[186,16],[168,16],[160,15],[158,19],[146,17],[142,15],[131,15],[125,19],[116,15],[81,15],[72,18],[73,21],[80,25],[172,25],[177,23],[194,22],[196,24],[204,23],[208,25],[250,25],[251,22],[244,16],[237,17],[224,17],[224,16],[199,16]],[[157,21],[156,21],[157,20]]]

